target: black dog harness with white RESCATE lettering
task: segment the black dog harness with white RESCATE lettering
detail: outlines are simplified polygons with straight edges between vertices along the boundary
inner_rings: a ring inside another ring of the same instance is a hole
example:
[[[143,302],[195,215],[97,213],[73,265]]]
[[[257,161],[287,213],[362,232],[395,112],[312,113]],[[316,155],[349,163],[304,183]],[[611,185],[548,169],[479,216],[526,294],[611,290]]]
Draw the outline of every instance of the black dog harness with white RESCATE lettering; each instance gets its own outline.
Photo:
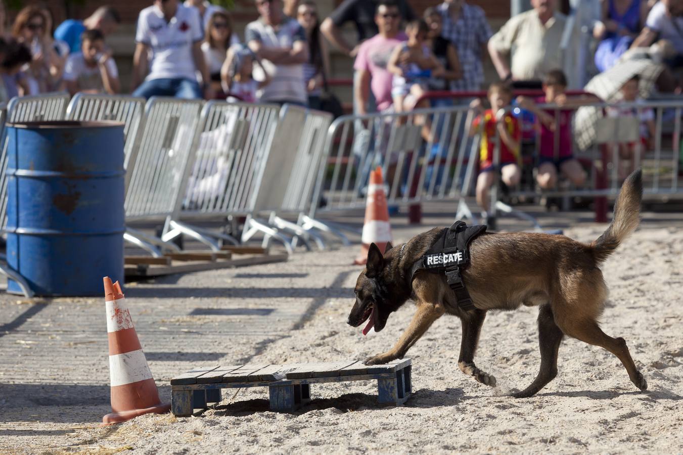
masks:
[[[469,264],[469,244],[484,232],[486,225],[467,227],[464,221],[456,221],[450,228],[441,231],[427,253],[410,267],[408,277],[411,285],[415,273],[419,271],[445,273],[448,286],[456,293],[458,306],[464,311],[473,309],[472,298],[462,282],[460,271]],[[400,256],[405,247],[401,247]]]

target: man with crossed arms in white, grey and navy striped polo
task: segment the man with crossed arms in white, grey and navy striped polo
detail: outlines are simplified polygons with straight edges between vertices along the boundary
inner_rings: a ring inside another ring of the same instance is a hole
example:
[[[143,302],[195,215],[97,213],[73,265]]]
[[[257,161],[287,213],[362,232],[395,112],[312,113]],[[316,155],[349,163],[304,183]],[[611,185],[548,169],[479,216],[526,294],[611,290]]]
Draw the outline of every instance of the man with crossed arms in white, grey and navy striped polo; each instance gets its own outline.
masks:
[[[296,19],[285,16],[282,0],[255,2],[259,18],[247,25],[245,41],[272,77],[257,97],[262,102],[306,106],[308,94],[303,74],[303,64],[308,61],[306,33]]]

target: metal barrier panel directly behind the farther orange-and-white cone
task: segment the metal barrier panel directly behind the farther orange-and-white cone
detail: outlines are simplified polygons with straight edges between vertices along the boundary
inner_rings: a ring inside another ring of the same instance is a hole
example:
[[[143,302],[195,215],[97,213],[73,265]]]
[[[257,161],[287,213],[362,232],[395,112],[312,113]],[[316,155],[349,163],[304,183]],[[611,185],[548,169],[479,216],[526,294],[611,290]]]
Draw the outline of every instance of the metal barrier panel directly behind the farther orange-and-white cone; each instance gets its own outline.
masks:
[[[370,169],[377,165],[390,206],[459,199],[478,150],[463,140],[472,120],[467,106],[338,118],[326,137],[328,165],[318,169],[311,217],[364,207]],[[323,208],[317,207],[320,197]]]

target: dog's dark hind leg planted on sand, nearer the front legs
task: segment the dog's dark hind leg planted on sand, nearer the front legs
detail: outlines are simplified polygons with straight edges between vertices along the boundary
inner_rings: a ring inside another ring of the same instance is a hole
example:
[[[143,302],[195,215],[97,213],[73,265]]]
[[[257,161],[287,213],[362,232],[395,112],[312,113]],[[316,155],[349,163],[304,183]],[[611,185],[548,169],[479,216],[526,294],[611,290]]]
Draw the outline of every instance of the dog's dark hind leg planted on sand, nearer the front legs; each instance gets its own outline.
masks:
[[[526,389],[513,394],[515,398],[529,398],[557,376],[557,350],[563,333],[555,324],[553,310],[546,303],[538,312],[538,342],[541,350],[541,368],[533,383]]]

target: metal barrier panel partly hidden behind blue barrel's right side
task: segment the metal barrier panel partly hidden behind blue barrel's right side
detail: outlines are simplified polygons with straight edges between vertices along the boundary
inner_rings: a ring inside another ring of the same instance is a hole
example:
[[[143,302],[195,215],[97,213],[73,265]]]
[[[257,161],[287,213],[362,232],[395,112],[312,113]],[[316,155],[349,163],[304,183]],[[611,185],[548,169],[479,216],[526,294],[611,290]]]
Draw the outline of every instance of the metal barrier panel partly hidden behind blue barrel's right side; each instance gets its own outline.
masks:
[[[124,167],[145,126],[145,98],[77,93],[66,109],[68,120],[94,122],[112,120],[124,124]]]

